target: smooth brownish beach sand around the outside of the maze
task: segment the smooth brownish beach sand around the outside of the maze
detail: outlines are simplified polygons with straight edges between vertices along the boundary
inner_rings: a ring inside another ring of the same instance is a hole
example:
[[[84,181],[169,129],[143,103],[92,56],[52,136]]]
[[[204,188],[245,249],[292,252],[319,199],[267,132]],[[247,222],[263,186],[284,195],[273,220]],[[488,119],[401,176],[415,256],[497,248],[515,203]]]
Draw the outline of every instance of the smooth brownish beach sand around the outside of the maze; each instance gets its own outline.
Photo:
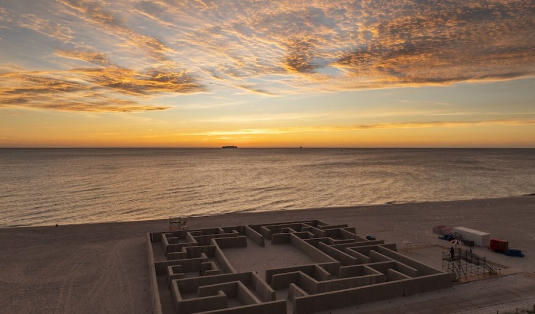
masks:
[[[188,225],[201,228],[305,219],[347,223],[356,227],[357,234],[396,242],[401,252],[426,259],[424,263],[435,267],[440,263],[439,248],[419,249],[449,244],[431,232],[433,225],[478,229],[509,240],[510,247],[521,249],[526,257],[477,249],[480,254],[504,266],[535,272],[533,196],[235,213],[190,218]],[[0,229],[1,312],[151,312],[144,235],[167,227],[167,220],[150,220]],[[496,285],[485,281],[478,285]]]

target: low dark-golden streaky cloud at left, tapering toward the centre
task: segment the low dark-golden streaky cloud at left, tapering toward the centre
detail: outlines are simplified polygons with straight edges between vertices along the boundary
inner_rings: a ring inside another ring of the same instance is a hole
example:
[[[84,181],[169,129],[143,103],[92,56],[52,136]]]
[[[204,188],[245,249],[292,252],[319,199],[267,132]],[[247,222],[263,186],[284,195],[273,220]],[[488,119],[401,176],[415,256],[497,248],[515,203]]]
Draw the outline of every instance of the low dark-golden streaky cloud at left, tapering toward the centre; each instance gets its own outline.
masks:
[[[109,64],[99,53],[60,54]],[[184,72],[153,69],[142,73],[120,67],[6,72],[0,73],[0,83],[3,107],[91,112],[165,110],[170,107],[142,105],[139,100],[158,93],[194,93],[203,89]]]

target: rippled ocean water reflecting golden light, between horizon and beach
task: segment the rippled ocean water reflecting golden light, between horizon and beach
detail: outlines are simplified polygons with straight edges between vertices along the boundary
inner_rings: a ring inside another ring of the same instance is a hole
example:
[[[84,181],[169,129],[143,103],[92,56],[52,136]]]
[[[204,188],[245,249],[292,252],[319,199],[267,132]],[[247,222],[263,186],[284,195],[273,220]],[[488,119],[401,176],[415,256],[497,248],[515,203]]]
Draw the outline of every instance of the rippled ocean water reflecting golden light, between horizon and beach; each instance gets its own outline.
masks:
[[[0,227],[531,193],[535,149],[0,149]]]

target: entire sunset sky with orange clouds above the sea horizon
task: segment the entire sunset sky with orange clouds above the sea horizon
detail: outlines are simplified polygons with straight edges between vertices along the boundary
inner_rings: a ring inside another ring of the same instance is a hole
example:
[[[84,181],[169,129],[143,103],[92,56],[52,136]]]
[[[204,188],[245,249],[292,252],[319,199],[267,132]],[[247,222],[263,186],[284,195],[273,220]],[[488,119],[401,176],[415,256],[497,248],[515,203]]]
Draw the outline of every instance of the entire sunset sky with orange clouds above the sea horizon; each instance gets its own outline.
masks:
[[[535,2],[2,0],[0,147],[535,148]]]

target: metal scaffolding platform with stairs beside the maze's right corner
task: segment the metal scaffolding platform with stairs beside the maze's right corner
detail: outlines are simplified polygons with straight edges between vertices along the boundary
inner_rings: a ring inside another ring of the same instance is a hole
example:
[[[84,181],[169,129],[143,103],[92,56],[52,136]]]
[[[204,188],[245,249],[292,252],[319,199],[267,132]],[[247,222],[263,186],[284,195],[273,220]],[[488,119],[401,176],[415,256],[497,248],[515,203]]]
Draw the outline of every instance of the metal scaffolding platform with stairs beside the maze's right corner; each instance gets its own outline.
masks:
[[[453,254],[450,251],[442,252],[442,271],[452,273],[455,281],[460,281],[461,278],[468,280],[469,277],[496,274],[497,268],[494,263],[471,250],[455,248]]]

